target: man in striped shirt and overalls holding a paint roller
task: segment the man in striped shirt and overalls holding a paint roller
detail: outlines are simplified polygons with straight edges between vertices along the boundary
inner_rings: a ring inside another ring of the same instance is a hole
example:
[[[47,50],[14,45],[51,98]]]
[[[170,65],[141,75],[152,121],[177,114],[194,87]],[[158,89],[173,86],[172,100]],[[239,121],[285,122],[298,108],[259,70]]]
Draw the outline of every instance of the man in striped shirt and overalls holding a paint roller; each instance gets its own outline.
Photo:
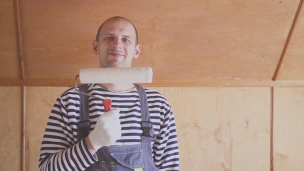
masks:
[[[107,19],[98,29],[93,52],[99,56],[100,67],[130,67],[140,53],[135,26],[120,16]],[[110,98],[114,109],[104,112],[101,100],[89,97],[90,128],[88,136],[82,139],[77,136],[79,93],[70,88],[59,95],[43,135],[40,170],[178,170],[171,107],[159,92],[148,88],[144,91],[150,130],[155,136],[143,135],[142,104],[133,83],[88,84],[89,94]],[[144,143],[142,139],[147,138],[150,141]],[[141,149],[144,145],[150,152]],[[101,150],[114,152],[104,152],[103,156]]]

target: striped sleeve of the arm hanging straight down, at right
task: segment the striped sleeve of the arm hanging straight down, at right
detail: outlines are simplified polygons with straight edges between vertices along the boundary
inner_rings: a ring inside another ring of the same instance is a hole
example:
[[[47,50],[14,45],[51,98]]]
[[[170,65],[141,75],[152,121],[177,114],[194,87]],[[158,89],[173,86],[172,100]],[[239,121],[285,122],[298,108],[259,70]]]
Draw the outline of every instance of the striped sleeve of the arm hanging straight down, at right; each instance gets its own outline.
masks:
[[[159,134],[153,148],[153,160],[159,170],[179,170],[176,125],[171,108],[163,111]]]

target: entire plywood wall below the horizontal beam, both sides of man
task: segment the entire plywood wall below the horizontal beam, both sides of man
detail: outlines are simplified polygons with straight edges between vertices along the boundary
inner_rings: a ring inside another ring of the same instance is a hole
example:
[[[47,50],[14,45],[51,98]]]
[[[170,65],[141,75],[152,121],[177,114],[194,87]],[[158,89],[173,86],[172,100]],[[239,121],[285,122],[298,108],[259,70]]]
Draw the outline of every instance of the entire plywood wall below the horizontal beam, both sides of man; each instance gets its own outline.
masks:
[[[67,87],[26,88],[26,167],[38,170],[55,98]],[[180,170],[270,170],[269,87],[157,87],[176,119]],[[0,87],[0,170],[20,170],[21,89]],[[274,88],[273,170],[304,167],[304,88]],[[11,107],[13,106],[13,107]]]

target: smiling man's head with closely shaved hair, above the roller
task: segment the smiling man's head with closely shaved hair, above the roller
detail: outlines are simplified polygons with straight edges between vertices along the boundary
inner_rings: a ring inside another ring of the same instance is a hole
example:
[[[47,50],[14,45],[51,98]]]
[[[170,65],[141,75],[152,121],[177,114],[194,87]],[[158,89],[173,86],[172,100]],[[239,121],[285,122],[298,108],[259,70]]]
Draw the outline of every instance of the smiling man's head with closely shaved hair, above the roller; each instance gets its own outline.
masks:
[[[99,67],[130,67],[140,52],[133,25],[121,18],[107,20],[99,32],[98,42],[93,42],[93,51],[99,55]]]

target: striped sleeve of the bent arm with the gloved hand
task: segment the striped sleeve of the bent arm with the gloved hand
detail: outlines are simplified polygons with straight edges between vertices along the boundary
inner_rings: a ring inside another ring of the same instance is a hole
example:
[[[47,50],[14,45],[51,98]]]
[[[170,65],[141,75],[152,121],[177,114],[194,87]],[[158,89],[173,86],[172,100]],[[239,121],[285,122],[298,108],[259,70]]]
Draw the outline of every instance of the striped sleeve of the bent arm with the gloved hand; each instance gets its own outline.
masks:
[[[84,139],[78,141],[76,117],[68,115],[63,101],[58,97],[50,112],[43,134],[39,170],[84,170],[97,161],[89,152]]]

